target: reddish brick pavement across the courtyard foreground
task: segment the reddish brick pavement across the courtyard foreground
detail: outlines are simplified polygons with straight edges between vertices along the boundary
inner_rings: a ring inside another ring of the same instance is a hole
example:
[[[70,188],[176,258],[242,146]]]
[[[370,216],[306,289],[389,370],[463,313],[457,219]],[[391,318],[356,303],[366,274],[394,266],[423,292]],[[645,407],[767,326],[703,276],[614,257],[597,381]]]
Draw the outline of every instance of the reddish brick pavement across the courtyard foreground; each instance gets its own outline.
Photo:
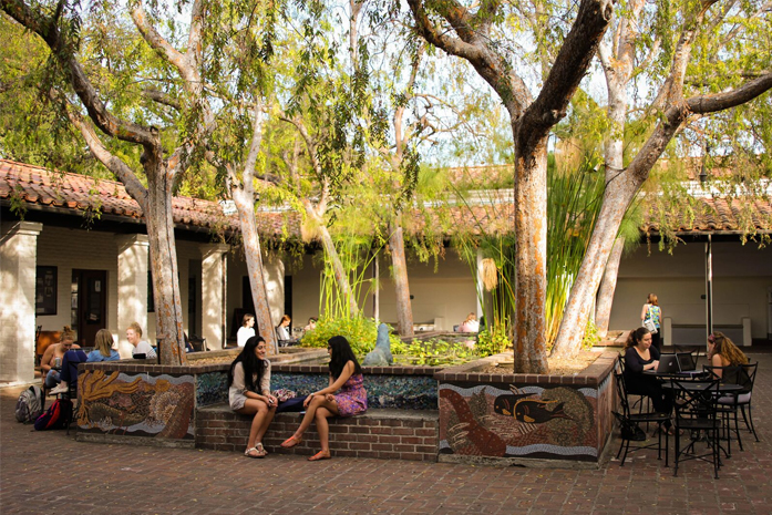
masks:
[[[13,419],[21,388],[0,390],[0,514],[768,514],[772,513],[772,354],[760,361],[754,396],[761,442],[672,477],[651,453],[624,468],[490,467],[301,455],[247,460],[239,453],[79,443]],[[616,451],[618,442],[611,442]]]

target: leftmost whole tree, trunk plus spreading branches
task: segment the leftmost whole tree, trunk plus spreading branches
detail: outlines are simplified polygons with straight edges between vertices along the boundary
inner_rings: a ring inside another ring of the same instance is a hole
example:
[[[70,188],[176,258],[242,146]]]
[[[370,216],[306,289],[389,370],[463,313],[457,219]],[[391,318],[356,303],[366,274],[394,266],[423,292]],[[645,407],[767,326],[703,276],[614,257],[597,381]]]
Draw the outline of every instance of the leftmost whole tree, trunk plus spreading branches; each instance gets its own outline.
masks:
[[[147,56],[142,55],[136,47],[136,32],[151,47],[158,48],[155,39],[158,34],[145,24],[146,17],[141,6],[132,8],[133,34],[123,20],[110,12],[110,6],[89,12],[86,18],[83,18],[79,4],[64,0],[35,4],[34,9],[22,0],[2,0],[0,7],[49,47],[54,79],[45,84],[45,93],[59,106],[59,113],[78,128],[91,153],[125,185],[126,192],[140,205],[150,240],[156,330],[163,341],[161,360],[166,364],[185,363],[184,310],[179,296],[172,196],[193,152],[210,130],[210,120],[206,113],[200,113],[188,119],[194,122],[183,134],[176,131],[176,126],[165,130],[164,115],[154,111],[156,101],[163,103],[165,95],[153,87],[138,86],[150,79],[143,73]],[[182,51],[171,45],[159,50],[172,63],[178,86],[189,95],[187,113],[200,109],[196,99],[202,96],[203,89],[203,10],[202,1],[191,6],[186,38],[181,39],[184,41]],[[113,34],[123,38],[122,44],[136,50],[135,54],[111,55],[109,50],[114,49],[99,44],[100,40],[109,41]],[[93,42],[97,44],[91,44],[86,54],[84,47]],[[144,96],[148,103],[137,105],[128,101],[132,94]],[[141,150],[142,173],[112,150],[117,146],[116,142]],[[147,186],[143,184],[142,175]]]

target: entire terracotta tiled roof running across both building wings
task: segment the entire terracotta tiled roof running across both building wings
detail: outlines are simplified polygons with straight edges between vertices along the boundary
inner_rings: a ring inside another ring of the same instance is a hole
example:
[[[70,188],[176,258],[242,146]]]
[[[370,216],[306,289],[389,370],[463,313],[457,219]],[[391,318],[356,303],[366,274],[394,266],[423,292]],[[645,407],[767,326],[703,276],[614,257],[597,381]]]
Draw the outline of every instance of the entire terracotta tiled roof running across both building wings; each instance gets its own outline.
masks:
[[[497,167],[494,167],[497,168]],[[482,167],[481,167],[482,169]],[[480,172],[480,171],[477,171]],[[73,213],[89,208],[103,214],[136,219],[142,218],[138,204],[126,193],[123,184],[114,181],[94,179],[84,175],[51,172],[40,166],[0,159],[0,200],[8,202],[12,192],[28,204],[52,208],[72,209]],[[772,233],[772,204],[764,200],[743,202],[723,198],[698,199],[691,213],[677,209],[666,215],[668,225],[679,235],[697,233]],[[174,222],[179,226],[206,229],[238,230],[236,215],[225,216],[215,202],[189,197],[174,197]],[[659,212],[650,208],[641,231],[657,234],[660,230]],[[297,214],[291,212],[258,212],[258,230],[264,237],[300,236]],[[486,205],[456,205],[447,210],[416,210],[413,219],[405,223],[409,233],[420,234],[426,227],[456,234],[464,229],[471,234],[485,231],[507,233],[514,228],[514,208],[511,202]]]

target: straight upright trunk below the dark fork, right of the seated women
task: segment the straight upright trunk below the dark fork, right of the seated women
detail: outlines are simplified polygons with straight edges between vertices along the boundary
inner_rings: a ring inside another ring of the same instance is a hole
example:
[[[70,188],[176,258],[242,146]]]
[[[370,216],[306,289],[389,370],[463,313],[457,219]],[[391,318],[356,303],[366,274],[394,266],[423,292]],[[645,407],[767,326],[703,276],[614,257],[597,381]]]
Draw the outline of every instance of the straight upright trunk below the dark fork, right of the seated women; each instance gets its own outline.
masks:
[[[522,125],[513,125],[521,142]],[[527,135],[523,135],[524,140]],[[545,303],[547,291],[546,137],[531,148],[515,144],[515,373],[549,373]]]

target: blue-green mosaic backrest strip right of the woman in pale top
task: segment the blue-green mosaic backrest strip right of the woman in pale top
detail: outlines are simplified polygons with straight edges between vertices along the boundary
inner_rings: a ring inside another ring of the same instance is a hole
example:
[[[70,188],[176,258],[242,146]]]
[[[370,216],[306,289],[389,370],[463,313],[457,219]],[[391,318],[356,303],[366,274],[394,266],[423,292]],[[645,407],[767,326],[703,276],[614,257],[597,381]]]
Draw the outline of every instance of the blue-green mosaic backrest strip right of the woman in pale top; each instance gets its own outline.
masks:
[[[327,375],[311,373],[274,373],[270,389],[288,389],[298,395],[308,395],[329,384]],[[401,408],[410,410],[436,410],[436,381],[422,375],[364,374],[364,390],[369,408]]]

